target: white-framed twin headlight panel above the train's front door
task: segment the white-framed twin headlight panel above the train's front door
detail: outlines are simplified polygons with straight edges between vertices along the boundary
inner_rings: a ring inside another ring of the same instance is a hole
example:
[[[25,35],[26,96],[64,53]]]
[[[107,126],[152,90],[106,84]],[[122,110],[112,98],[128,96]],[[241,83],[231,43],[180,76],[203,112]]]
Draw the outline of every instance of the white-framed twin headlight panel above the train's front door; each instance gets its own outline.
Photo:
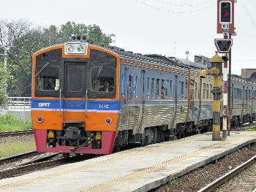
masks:
[[[66,55],[86,55],[88,44],[86,42],[67,42],[64,47]]]

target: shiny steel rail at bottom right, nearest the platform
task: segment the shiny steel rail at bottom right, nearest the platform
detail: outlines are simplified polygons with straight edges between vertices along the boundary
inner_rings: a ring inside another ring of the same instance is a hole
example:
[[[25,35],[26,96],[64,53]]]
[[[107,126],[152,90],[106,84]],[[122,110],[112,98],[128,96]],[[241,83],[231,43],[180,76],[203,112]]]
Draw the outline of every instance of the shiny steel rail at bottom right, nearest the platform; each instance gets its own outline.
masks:
[[[240,166],[237,166],[232,171],[228,172],[227,174],[223,175],[222,177],[219,177],[217,180],[214,180],[214,182],[210,183],[209,185],[206,185],[206,187],[200,189],[200,191],[198,191],[198,192],[214,191],[220,185],[226,183],[228,180],[235,177],[236,174],[239,174],[239,173],[243,172],[244,169],[248,168],[249,166],[252,166],[252,164],[255,164],[255,162],[256,162],[256,155],[253,158],[250,158],[244,164],[241,164]]]

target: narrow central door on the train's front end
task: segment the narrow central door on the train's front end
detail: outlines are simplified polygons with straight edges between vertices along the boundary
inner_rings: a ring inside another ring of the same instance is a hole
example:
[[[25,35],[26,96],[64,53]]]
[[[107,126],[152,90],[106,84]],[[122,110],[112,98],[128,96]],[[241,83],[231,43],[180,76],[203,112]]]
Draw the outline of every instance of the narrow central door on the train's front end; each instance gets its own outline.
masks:
[[[64,122],[84,122],[86,111],[86,64],[66,63],[64,85]],[[72,98],[72,99],[71,99]]]

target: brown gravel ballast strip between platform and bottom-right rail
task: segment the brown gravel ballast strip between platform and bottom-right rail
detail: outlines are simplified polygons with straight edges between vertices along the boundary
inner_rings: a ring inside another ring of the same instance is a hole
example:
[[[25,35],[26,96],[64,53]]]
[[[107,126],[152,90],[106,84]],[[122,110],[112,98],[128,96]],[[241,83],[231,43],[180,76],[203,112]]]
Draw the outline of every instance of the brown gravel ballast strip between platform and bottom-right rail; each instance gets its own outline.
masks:
[[[175,178],[169,183],[152,191],[198,191],[200,188],[203,188],[218,177],[230,172],[230,170],[236,168],[236,166],[239,166],[245,161],[248,161],[255,155],[256,144],[251,145],[251,147],[244,147],[234,153],[230,153],[224,158],[220,158],[219,161],[213,164],[206,164],[205,166],[184,174],[182,177]]]

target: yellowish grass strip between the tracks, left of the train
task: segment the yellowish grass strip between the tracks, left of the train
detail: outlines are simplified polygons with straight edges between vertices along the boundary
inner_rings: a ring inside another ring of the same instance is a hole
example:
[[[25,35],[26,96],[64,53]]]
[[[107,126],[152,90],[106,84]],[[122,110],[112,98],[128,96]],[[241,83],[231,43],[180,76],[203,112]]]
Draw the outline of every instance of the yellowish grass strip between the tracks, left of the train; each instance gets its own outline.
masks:
[[[0,158],[10,155],[29,152],[35,150],[34,137],[24,137],[23,140],[15,140],[15,137],[7,137],[0,140]]]

